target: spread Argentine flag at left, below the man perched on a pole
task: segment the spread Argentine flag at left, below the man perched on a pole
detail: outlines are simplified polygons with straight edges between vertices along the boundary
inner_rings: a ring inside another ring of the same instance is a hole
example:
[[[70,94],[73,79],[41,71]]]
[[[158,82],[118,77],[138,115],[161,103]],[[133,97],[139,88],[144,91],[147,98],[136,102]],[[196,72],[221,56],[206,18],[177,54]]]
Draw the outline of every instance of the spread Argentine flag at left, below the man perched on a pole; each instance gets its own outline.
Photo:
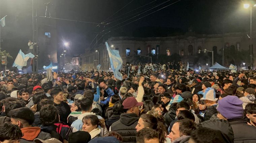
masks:
[[[27,61],[29,58],[34,58],[35,56],[31,53],[24,54],[21,49],[13,63],[13,67],[17,67],[19,70],[22,70],[22,67],[27,66]]]

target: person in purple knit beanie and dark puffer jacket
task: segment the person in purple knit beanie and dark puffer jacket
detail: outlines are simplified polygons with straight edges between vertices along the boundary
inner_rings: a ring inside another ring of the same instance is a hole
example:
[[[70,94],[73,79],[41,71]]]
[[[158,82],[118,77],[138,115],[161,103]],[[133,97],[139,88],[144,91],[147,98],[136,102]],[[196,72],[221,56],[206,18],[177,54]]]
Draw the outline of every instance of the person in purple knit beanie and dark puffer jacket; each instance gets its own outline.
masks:
[[[256,128],[247,124],[243,119],[243,102],[238,97],[228,95],[218,102],[218,115],[220,120],[227,120],[234,133],[235,143],[255,143]]]

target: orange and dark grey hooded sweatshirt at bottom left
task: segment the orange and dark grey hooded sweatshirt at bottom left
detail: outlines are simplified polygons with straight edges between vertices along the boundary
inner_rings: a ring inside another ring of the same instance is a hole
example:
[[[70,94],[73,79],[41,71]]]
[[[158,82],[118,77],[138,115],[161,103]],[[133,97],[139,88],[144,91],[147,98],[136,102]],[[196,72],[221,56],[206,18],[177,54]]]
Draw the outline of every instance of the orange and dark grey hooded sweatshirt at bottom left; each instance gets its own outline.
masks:
[[[27,127],[22,128],[21,132],[23,133],[23,137],[21,137],[21,143],[32,143],[35,138],[39,138],[42,140],[47,140],[51,138],[49,133],[45,133],[41,131],[39,127]]]

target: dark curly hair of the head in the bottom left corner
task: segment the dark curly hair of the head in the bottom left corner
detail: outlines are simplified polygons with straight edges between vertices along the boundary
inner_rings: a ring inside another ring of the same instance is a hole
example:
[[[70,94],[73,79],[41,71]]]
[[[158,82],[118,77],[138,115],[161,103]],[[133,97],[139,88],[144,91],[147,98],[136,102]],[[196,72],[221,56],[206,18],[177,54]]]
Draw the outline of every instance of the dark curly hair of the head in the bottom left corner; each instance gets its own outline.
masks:
[[[23,136],[21,129],[17,125],[4,123],[0,125],[0,141],[19,140]]]

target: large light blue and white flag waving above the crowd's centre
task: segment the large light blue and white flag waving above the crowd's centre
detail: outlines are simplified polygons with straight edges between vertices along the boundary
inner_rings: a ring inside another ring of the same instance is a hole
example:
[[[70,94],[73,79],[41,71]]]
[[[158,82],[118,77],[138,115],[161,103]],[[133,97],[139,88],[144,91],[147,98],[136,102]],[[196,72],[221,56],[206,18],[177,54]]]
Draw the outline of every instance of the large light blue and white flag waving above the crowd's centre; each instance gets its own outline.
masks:
[[[123,64],[123,60],[119,55],[119,51],[118,50],[111,50],[107,44],[107,42],[105,43],[106,47],[107,47],[107,52],[108,52],[108,56],[110,59],[110,66],[111,69],[114,72],[114,75],[117,79],[122,80],[122,74],[118,71],[120,70],[120,68],[122,67]]]

